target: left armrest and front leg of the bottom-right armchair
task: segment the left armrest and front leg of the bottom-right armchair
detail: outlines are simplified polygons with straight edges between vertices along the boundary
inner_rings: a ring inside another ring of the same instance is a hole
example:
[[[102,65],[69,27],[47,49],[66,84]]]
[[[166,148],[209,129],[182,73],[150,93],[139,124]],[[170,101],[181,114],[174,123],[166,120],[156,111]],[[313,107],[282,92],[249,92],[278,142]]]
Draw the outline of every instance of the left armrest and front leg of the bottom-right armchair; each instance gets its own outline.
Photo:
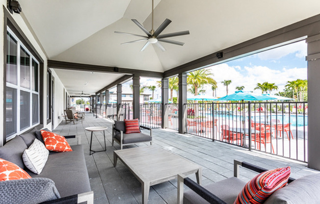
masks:
[[[205,189],[203,186],[199,185],[198,183],[194,182],[184,175],[178,175],[178,204],[183,204],[183,184],[188,186],[191,190],[193,190],[210,204],[227,204],[217,196],[215,196],[213,193]]]

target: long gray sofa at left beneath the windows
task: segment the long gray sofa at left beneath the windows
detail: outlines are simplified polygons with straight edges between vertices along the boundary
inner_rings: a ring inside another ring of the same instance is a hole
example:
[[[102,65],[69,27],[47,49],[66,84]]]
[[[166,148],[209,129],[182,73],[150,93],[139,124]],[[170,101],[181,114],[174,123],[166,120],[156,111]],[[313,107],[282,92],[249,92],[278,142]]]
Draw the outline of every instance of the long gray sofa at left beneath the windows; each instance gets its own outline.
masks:
[[[72,204],[87,201],[88,204],[93,204],[93,191],[90,187],[82,145],[71,146],[72,152],[51,152],[42,172],[36,175],[25,167],[22,159],[23,152],[35,138],[43,142],[40,131],[33,128],[0,147],[0,158],[17,164],[32,177],[0,181],[0,203]]]

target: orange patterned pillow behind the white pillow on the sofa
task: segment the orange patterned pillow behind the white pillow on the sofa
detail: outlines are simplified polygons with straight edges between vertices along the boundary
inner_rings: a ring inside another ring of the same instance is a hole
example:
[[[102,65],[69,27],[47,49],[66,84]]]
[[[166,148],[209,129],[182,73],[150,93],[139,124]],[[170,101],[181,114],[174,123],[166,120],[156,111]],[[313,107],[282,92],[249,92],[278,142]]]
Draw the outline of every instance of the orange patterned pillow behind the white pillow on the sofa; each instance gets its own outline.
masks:
[[[71,152],[72,149],[64,136],[54,134],[53,132],[41,130],[42,139],[46,148],[54,152]]]

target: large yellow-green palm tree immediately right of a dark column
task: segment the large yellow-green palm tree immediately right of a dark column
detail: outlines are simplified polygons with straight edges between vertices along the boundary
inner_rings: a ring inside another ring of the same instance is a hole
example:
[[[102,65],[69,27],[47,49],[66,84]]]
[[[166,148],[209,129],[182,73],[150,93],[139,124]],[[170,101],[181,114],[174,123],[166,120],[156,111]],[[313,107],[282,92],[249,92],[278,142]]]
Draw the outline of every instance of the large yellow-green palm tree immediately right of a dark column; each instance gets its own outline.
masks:
[[[198,89],[205,84],[216,84],[216,81],[212,78],[213,74],[210,70],[202,69],[188,73],[187,83],[194,87],[194,96],[198,95]]]

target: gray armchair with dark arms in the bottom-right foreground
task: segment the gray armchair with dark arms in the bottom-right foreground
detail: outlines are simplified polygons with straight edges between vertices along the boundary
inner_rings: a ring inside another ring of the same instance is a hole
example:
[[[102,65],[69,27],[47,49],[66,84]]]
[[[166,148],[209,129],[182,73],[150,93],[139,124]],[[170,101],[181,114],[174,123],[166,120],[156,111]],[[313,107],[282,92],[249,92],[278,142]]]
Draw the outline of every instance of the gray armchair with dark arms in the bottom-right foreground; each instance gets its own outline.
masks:
[[[246,182],[239,179],[239,166],[258,173],[267,169],[247,162],[234,162],[234,177],[200,186],[184,175],[178,175],[178,204],[234,204]],[[191,190],[184,192],[184,184]],[[320,204],[320,174],[289,178],[288,185],[275,191],[264,204]]]

